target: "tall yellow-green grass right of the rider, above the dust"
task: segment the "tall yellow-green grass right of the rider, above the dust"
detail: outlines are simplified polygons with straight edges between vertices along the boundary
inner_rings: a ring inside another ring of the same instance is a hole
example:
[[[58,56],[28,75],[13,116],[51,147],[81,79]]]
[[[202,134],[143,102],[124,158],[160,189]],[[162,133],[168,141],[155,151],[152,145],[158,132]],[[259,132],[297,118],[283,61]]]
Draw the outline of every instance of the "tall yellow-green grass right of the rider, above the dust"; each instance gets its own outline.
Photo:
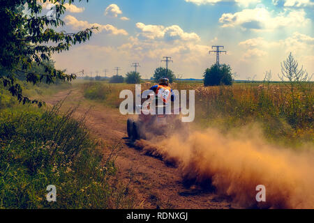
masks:
[[[294,90],[292,96],[290,89],[278,83],[199,87],[197,121],[226,128],[255,122],[271,140],[313,142],[313,91]]]

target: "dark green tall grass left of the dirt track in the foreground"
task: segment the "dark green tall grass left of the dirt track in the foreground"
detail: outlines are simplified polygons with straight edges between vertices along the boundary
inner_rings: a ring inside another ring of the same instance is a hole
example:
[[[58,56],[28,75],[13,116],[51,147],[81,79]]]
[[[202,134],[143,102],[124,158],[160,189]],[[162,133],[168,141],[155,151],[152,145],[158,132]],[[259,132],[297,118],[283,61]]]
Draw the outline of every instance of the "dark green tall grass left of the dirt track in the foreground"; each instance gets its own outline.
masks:
[[[0,109],[0,208],[131,208],[112,155],[103,157],[74,109]],[[47,185],[57,202],[47,202]]]

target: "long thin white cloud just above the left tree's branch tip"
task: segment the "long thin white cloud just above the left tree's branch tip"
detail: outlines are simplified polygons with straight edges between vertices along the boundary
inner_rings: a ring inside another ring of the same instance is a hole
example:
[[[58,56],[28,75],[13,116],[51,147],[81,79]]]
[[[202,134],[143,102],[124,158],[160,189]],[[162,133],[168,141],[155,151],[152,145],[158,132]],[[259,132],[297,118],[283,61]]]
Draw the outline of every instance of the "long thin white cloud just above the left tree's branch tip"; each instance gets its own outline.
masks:
[[[92,26],[98,26],[98,31],[99,33],[105,32],[107,34],[112,34],[112,35],[124,35],[127,36],[128,32],[125,31],[124,29],[117,29],[115,26],[112,26],[110,24],[98,24],[98,23],[89,23],[87,21],[80,21],[77,20],[77,18],[73,17],[72,15],[67,15],[64,18],[66,25],[71,26],[75,30],[79,29],[87,29],[91,28]]]

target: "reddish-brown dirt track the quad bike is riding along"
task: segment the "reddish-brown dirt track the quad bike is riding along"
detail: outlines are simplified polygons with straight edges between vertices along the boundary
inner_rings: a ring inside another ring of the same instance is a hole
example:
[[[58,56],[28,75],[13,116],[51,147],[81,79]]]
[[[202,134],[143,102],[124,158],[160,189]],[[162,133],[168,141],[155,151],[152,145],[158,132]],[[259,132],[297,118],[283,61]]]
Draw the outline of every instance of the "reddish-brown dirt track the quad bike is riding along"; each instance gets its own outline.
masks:
[[[54,105],[69,92],[59,92],[45,102]],[[83,100],[80,89],[73,89],[63,107],[75,106]],[[87,114],[87,125],[91,132],[105,144],[114,145],[121,142],[122,148],[116,164],[119,177],[125,183],[130,182],[130,190],[136,197],[136,208],[232,208],[230,201],[218,197],[214,192],[197,187],[184,187],[179,169],[128,146],[128,117],[122,116],[118,109],[84,100],[77,109],[77,115],[85,114],[91,106],[93,107]]]

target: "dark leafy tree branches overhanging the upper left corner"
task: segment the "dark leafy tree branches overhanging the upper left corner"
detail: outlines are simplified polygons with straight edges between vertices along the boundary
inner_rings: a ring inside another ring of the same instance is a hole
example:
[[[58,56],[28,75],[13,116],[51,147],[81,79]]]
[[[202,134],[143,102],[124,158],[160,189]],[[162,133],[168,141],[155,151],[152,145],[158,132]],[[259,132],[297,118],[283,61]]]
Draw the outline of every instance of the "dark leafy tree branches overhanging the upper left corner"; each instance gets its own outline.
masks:
[[[63,52],[72,45],[89,40],[93,30],[97,29],[93,26],[78,33],[55,31],[54,29],[64,25],[60,19],[66,11],[64,4],[71,4],[74,0],[42,0],[42,2],[55,3],[53,19],[42,14],[40,1],[36,0],[1,1],[0,8],[0,85],[10,91],[19,102],[36,103],[39,107],[43,102],[30,100],[22,94],[22,87],[16,82],[17,76],[24,76],[27,82],[33,84],[38,82],[51,84],[57,79],[63,82],[75,79],[75,74],[68,75],[63,70],[47,66],[45,61],[48,61],[55,52]],[[24,5],[27,6],[27,14],[22,12]],[[45,72],[29,70],[34,63],[43,66]]]

